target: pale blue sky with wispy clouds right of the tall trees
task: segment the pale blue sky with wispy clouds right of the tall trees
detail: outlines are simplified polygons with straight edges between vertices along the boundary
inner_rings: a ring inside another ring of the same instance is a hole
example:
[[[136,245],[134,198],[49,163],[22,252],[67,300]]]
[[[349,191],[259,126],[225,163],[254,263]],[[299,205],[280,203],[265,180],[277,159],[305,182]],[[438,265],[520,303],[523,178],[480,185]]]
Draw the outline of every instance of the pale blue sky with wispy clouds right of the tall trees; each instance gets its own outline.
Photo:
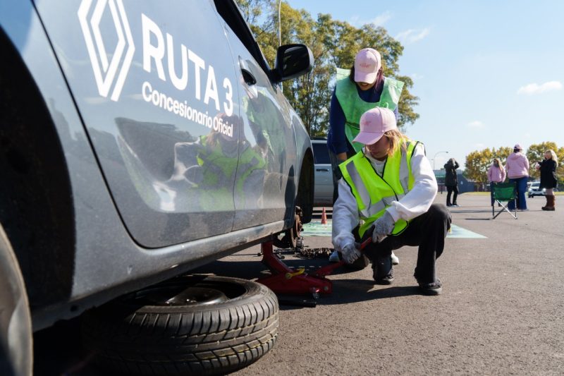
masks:
[[[564,147],[564,1],[284,1],[401,42],[420,115],[405,133],[436,169],[486,147]]]

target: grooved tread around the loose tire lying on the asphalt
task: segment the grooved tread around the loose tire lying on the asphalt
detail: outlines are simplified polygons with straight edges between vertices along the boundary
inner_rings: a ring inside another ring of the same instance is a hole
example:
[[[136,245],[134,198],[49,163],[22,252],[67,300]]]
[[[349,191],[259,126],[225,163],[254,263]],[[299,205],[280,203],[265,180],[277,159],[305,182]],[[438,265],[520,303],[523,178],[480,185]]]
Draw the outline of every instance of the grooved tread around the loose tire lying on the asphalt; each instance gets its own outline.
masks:
[[[85,344],[99,350],[102,368],[120,373],[234,372],[261,358],[278,338],[276,296],[264,286],[258,291],[245,301],[234,299],[231,305],[203,312],[159,312],[145,306],[119,322],[111,320],[111,314],[90,312],[82,325]]]

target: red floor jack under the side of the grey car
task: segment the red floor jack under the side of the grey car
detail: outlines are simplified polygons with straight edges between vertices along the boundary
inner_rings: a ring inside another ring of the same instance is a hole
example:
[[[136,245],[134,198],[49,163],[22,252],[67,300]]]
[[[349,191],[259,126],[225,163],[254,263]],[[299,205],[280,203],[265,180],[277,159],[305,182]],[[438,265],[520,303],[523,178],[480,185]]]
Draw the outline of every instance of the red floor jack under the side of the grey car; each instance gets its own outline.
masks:
[[[372,242],[372,238],[368,238],[360,245],[362,250],[366,245]],[[269,287],[274,293],[288,294],[308,294],[311,293],[314,298],[319,298],[320,293],[332,293],[333,282],[326,279],[325,276],[331,274],[333,270],[341,267],[345,262],[340,261],[331,265],[320,267],[312,274],[307,274],[305,268],[292,269],[284,264],[276,255],[272,248],[272,242],[262,243],[262,262],[271,269],[272,275],[269,277],[259,278],[257,281]]]

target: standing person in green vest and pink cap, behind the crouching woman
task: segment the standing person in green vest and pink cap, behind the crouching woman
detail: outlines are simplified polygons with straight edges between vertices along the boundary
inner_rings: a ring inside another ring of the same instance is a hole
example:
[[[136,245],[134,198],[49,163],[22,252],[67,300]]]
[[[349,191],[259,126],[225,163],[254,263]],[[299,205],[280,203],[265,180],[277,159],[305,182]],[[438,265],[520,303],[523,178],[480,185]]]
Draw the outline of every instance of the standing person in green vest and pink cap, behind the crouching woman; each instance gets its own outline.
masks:
[[[333,169],[333,203],[338,196],[337,181],[341,178],[338,164],[352,157],[362,145],[353,142],[359,132],[360,116],[374,107],[391,109],[398,119],[398,103],[403,82],[382,74],[382,59],[372,48],[360,50],[353,67],[337,68],[337,84],[329,109],[327,147]],[[333,260],[336,254],[331,255]],[[392,253],[394,265],[399,259]],[[364,265],[364,262],[360,262]]]

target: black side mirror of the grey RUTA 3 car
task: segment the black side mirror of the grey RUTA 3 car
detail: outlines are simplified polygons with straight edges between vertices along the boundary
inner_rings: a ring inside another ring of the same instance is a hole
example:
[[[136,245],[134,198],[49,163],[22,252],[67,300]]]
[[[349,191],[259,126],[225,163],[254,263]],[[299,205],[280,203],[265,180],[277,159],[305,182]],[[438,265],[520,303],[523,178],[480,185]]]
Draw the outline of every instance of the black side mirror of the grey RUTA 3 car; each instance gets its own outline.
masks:
[[[291,80],[313,69],[313,54],[305,44],[284,44],[278,47],[272,78],[277,83]]]

